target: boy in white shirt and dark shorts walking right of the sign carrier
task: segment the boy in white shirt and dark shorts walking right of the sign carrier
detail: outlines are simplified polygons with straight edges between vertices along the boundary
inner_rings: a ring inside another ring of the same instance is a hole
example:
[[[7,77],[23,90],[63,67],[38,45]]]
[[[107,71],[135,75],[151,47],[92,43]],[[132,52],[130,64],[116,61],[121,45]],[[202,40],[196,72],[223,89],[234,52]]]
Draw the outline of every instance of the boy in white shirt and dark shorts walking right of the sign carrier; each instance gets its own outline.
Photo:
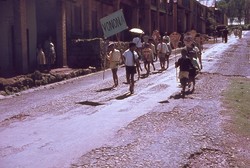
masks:
[[[139,56],[135,50],[136,44],[131,42],[129,43],[129,49],[123,53],[124,63],[126,66],[126,78],[127,83],[130,85],[129,91],[131,94],[134,93],[134,75],[136,73],[136,65],[138,65],[139,62]]]

